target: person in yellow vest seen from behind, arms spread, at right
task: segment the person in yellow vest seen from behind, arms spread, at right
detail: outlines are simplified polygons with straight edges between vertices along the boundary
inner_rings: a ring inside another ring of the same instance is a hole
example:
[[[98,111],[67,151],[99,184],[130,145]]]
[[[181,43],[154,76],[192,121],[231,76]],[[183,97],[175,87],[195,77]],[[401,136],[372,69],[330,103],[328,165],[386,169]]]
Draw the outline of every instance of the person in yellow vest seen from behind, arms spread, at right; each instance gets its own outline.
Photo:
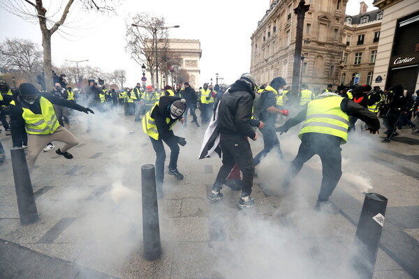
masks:
[[[380,128],[377,116],[353,100],[342,98],[336,93],[325,92],[309,102],[295,118],[288,119],[277,132],[286,133],[291,127],[304,122],[300,131],[300,148],[286,172],[283,186],[288,187],[291,179],[300,172],[302,165],[318,154],[321,158],[323,181],[316,202],[316,209],[337,213],[335,204],[329,201],[341,177],[341,148],[348,139],[348,119],[355,116],[365,121],[370,133]]]

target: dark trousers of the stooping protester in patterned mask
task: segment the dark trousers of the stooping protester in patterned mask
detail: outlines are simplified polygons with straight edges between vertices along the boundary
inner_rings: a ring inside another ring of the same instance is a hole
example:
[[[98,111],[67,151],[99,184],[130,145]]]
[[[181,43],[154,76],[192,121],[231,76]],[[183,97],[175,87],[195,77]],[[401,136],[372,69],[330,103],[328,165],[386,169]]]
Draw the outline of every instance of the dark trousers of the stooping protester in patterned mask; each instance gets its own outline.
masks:
[[[177,158],[179,158],[179,144],[177,144],[177,137],[175,135],[166,137],[165,139],[159,138],[154,140],[150,137],[153,144],[153,149],[156,152],[156,183],[157,185],[163,185],[164,179],[164,162],[166,160],[166,151],[164,150],[163,142],[170,148],[170,162],[169,169],[177,168]]]

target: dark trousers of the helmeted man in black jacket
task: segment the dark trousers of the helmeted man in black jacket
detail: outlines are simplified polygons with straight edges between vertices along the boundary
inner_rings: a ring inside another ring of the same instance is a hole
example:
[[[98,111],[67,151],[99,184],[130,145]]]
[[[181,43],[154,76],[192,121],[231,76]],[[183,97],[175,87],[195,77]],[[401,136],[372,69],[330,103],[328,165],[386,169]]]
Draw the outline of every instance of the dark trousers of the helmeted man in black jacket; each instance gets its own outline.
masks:
[[[221,190],[228,174],[230,174],[231,169],[237,163],[243,174],[242,197],[247,197],[251,194],[253,174],[255,173],[249,141],[242,135],[221,134],[220,147],[223,153],[223,165],[216,175],[212,190]]]

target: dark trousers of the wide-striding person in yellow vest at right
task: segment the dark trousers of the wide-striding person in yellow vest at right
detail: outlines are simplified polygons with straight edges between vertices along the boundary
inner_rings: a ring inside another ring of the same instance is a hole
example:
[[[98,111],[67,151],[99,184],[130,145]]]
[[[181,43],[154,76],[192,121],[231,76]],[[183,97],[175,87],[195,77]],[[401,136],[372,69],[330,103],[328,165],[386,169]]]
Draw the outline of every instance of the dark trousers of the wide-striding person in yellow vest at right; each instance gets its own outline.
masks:
[[[321,181],[318,200],[324,202],[332,195],[333,190],[335,190],[342,175],[341,148],[339,138],[333,139],[330,138],[333,136],[324,136],[322,134],[316,135],[315,133],[312,133],[310,137],[302,137],[297,156],[295,156],[295,159],[286,172],[283,186],[288,187],[291,179],[300,172],[304,163],[317,154],[320,156],[323,169],[323,180]],[[328,137],[332,140],[329,140]]]

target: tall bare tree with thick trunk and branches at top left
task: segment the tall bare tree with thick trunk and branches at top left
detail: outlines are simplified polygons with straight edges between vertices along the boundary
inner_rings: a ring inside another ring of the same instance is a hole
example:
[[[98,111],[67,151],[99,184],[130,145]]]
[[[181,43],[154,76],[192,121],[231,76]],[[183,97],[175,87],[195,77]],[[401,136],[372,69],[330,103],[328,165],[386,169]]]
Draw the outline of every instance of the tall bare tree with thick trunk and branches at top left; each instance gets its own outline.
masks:
[[[48,1],[47,5],[44,5],[43,0],[2,0],[0,7],[4,10],[8,10],[9,13],[17,15],[28,22],[34,22],[36,20],[41,28],[42,33],[42,47],[43,47],[43,69],[45,72],[45,85],[47,90],[52,89],[52,59],[51,59],[51,36],[52,34],[61,27],[70,8],[74,3],[74,0],[66,0],[67,3],[64,6],[60,5],[61,17],[58,21],[52,20],[51,17],[47,16],[47,9],[52,3]],[[84,10],[96,10],[98,12],[110,12],[114,11],[114,3],[119,0],[78,0]],[[62,9],[64,7],[64,9]],[[58,14],[57,13],[57,14]]]

